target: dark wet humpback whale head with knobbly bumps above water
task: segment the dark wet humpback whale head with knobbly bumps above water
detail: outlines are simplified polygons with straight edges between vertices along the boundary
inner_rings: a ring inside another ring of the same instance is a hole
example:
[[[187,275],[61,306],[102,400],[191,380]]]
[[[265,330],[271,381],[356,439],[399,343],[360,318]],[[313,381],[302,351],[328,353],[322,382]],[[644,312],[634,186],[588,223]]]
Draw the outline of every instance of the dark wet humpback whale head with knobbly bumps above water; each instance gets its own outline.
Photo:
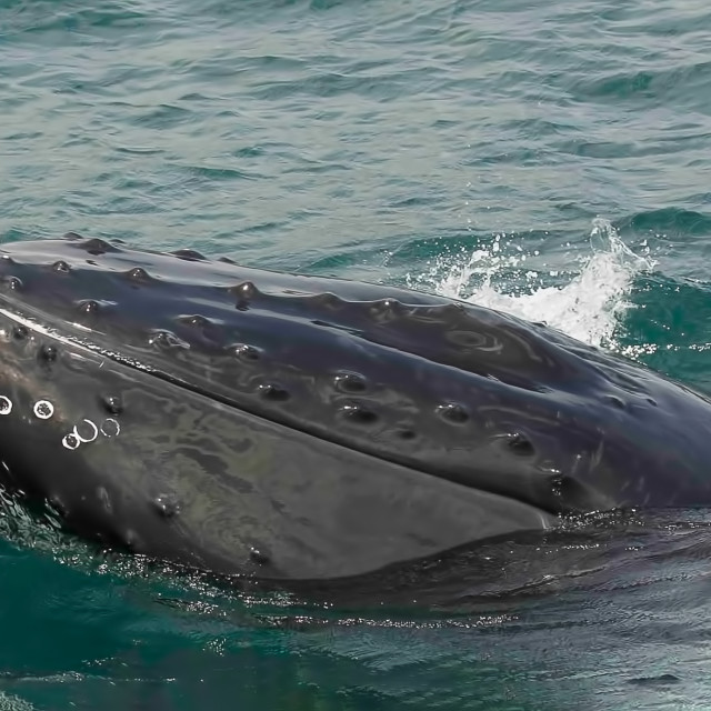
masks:
[[[328,579],[711,503],[709,401],[544,326],[72,233],[0,256],[4,479],[107,543]]]

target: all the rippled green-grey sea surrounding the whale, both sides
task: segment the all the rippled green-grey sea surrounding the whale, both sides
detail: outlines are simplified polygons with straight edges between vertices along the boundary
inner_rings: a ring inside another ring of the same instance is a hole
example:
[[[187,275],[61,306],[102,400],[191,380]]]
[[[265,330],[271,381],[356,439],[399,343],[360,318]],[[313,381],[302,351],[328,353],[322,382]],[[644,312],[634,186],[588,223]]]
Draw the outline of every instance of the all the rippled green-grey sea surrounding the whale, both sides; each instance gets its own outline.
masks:
[[[0,0],[0,241],[405,284],[710,392],[710,29],[701,0]],[[1,512],[0,710],[711,708],[709,512],[484,547],[378,605]]]

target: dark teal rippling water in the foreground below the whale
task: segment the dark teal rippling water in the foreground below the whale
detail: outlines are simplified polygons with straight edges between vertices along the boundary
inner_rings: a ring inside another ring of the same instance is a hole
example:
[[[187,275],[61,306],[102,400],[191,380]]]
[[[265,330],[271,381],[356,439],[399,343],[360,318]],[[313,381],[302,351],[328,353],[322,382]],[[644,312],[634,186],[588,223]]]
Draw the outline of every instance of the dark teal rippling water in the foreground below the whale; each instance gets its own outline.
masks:
[[[289,593],[99,553],[10,499],[2,513],[0,709],[679,708],[710,691],[708,512],[565,521]]]

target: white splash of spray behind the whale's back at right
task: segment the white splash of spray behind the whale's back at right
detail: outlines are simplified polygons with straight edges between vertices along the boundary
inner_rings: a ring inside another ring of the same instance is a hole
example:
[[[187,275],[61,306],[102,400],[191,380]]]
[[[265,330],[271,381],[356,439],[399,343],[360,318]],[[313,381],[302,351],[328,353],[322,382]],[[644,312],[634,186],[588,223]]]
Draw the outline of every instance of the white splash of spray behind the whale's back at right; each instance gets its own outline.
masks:
[[[442,296],[544,321],[585,343],[613,348],[620,319],[631,308],[625,297],[633,279],[651,270],[653,262],[628,248],[603,219],[594,220],[590,243],[592,254],[577,273],[567,274],[528,269],[527,259],[530,262],[538,252],[527,254],[520,246],[507,249],[505,238],[499,236],[488,248],[441,260],[415,281],[420,286],[429,281],[428,286]],[[515,283],[507,281],[510,273],[518,277]],[[558,283],[551,286],[553,280]]]

